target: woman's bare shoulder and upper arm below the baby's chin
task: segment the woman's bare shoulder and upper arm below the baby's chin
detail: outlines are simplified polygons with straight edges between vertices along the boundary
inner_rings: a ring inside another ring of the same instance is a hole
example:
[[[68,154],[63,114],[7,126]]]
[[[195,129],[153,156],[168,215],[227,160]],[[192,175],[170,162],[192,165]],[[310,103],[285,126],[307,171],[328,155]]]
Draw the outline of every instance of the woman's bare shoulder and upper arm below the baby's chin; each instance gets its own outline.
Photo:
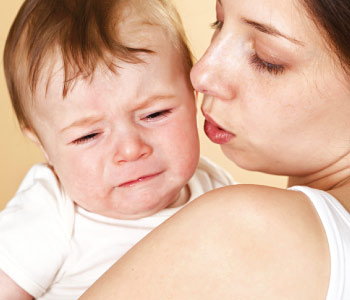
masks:
[[[329,261],[303,194],[238,185],[186,206],[81,299],[325,299]]]

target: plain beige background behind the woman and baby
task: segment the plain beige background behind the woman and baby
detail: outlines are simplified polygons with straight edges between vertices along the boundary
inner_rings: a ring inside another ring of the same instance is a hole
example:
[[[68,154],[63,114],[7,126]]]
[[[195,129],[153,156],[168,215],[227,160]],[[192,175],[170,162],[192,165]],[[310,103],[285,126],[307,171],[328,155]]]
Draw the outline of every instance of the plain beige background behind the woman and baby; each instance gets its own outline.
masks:
[[[0,1],[0,55],[9,27],[22,0]],[[188,33],[196,57],[209,44],[211,29],[209,24],[215,19],[214,0],[174,0]],[[202,132],[203,119],[199,116],[202,154],[210,157],[229,170],[242,183],[260,183],[277,187],[285,186],[286,178],[244,171],[236,167],[221,153],[219,146],[211,143]],[[0,71],[0,209],[15,193],[18,184],[29,167],[43,161],[40,151],[22,136],[12,112],[7,93],[1,60]]]

